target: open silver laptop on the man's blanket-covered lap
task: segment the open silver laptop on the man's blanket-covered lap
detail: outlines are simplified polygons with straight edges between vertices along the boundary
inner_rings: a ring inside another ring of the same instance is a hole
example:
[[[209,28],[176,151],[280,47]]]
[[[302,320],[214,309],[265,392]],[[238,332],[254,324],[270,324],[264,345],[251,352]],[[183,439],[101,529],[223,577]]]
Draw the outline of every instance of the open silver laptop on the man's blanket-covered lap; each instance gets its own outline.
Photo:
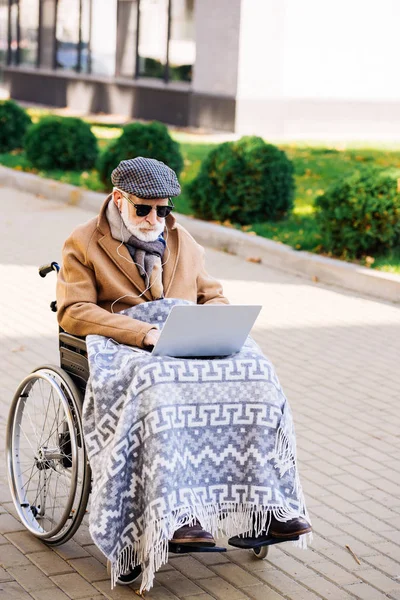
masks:
[[[260,310],[247,304],[173,306],[151,354],[185,358],[239,352]]]

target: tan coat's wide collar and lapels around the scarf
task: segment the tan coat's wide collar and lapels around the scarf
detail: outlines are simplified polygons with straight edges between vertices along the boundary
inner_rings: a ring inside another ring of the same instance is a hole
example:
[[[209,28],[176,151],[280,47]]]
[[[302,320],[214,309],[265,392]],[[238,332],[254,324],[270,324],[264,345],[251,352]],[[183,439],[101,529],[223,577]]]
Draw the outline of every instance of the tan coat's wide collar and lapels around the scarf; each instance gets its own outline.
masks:
[[[99,239],[99,245],[103,248],[106,254],[108,254],[118,269],[122,271],[129,281],[135,286],[135,288],[141,294],[143,294],[142,297],[146,300],[153,300],[150,290],[144,292],[145,282],[141,277],[137,266],[132,262],[132,258],[127,247],[125,244],[121,244],[121,242],[115,240],[111,235],[110,226],[106,217],[106,209],[110,199],[111,195],[106,198],[97,218],[97,229],[102,236]],[[164,237],[166,241],[166,249],[163,258],[164,264],[162,280],[164,295],[167,296],[178,263],[179,236],[175,217],[172,214],[168,215],[168,217],[165,219],[165,225]]]

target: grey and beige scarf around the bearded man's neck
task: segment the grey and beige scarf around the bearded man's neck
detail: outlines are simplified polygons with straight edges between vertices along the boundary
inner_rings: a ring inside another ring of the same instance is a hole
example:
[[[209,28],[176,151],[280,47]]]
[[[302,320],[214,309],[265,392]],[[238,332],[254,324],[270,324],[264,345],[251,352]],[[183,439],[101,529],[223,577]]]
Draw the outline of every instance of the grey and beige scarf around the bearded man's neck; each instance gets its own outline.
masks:
[[[153,300],[164,298],[162,258],[165,251],[165,240],[162,234],[154,242],[139,240],[125,227],[121,214],[112,199],[108,203],[106,215],[112,237],[126,245],[133,262],[144,279],[146,288],[150,289]]]

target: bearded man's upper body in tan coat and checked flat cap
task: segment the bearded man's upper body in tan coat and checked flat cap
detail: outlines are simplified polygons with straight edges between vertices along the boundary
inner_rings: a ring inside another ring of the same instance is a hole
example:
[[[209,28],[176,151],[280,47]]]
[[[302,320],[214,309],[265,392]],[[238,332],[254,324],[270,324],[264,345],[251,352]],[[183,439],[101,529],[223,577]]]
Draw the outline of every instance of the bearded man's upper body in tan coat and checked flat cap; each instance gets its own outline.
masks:
[[[111,180],[114,189],[99,216],[65,243],[59,323],[75,335],[151,346],[159,336],[156,328],[115,313],[164,297],[198,304],[228,300],[204,268],[204,250],[171,214],[170,198],[180,194],[172,169],[138,157],[122,161]]]

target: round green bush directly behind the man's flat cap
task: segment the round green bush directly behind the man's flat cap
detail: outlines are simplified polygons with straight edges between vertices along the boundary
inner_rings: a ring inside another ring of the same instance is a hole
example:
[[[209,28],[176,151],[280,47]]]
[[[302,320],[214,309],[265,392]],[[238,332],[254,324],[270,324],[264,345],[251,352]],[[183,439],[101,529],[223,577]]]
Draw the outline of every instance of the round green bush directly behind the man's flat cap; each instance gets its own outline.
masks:
[[[183,169],[183,158],[179,144],[175,142],[163,123],[129,123],[121,136],[112,142],[100,155],[98,170],[104,185],[111,189],[111,173],[121,160],[128,158],[155,158],[171,167],[179,177]]]

